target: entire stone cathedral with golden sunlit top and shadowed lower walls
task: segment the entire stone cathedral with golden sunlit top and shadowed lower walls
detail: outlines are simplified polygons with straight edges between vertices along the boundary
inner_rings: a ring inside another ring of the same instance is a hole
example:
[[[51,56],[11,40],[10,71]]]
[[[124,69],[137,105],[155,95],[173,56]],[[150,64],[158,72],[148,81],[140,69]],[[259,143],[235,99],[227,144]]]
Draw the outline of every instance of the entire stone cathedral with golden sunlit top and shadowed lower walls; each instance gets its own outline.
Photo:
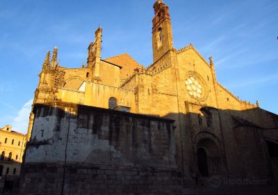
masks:
[[[277,115],[222,86],[213,58],[193,44],[174,48],[161,0],[152,24],[147,68],[129,54],[101,59],[101,27],[82,67],[60,65],[57,47],[47,52],[29,120],[23,194],[181,194],[193,176],[204,186],[215,176],[278,179]]]

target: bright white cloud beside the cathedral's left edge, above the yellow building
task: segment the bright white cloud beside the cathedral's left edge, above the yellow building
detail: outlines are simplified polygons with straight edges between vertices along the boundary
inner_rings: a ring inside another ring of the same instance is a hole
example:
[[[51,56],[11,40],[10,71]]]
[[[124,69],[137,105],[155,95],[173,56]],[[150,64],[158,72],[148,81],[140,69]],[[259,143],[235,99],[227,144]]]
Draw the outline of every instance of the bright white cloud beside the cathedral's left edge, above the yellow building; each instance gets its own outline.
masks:
[[[26,134],[28,129],[28,123],[29,123],[29,114],[31,112],[32,104],[33,104],[33,99],[28,100],[28,102],[26,102],[22,106],[22,108],[17,112],[17,116],[15,116],[13,122],[11,123],[14,131]]]

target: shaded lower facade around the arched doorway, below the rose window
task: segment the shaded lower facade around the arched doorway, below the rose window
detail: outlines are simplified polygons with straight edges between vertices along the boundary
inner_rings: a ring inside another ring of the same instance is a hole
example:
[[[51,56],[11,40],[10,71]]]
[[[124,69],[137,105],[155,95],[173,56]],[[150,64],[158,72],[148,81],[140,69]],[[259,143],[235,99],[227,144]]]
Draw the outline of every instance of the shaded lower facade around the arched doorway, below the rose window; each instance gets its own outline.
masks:
[[[179,118],[174,123],[177,162],[188,178],[199,173],[207,178],[278,179],[277,115],[260,108],[190,106],[195,113],[165,116]]]

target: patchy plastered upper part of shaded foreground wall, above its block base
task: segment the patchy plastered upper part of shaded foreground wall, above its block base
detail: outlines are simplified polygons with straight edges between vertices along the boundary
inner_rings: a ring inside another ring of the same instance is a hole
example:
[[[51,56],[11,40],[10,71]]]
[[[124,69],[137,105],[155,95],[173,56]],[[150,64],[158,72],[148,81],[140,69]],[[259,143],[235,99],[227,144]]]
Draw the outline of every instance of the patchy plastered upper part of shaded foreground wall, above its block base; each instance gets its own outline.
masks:
[[[177,168],[174,120],[76,104],[36,104],[26,162]]]

